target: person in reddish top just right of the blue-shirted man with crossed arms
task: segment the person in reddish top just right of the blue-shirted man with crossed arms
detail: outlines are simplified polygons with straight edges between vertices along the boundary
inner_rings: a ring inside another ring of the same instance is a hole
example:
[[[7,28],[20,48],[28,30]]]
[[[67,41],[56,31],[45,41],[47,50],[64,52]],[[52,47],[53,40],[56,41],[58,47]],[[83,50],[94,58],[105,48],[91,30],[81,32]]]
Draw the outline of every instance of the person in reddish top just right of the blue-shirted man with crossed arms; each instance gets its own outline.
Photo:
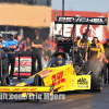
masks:
[[[17,36],[17,41],[19,41],[19,45],[17,45],[16,51],[26,51],[26,45],[23,41],[21,35]]]

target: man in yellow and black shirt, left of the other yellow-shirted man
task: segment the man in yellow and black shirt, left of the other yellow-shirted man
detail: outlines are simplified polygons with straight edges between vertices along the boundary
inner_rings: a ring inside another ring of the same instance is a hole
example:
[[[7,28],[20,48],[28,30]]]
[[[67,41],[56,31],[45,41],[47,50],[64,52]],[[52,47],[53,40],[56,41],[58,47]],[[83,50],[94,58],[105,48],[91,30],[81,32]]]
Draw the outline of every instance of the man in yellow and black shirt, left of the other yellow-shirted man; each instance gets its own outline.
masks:
[[[86,33],[83,34],[83,38],[77,40],[77,47],[81,57],[85,60],[85,52],[86,52],[86,41],[87,41],[87,47],[90,46],[92,41],[86,40]]]

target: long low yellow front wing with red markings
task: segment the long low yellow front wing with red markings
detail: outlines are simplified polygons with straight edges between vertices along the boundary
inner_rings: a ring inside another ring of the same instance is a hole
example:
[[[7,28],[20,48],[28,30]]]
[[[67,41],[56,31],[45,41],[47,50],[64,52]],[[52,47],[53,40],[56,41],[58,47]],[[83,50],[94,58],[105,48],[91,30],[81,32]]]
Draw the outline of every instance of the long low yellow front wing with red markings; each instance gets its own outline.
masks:
[[[46,86],[1,86],[0,93],[50,93]]]

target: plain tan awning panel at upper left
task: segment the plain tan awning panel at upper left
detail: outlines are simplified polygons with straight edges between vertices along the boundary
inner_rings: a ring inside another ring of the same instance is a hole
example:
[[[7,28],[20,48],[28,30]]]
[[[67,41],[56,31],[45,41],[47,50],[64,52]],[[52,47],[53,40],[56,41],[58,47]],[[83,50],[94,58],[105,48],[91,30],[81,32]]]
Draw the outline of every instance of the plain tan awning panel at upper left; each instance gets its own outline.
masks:
[[[51,8],[0,3],[0,25],[50,27]]]

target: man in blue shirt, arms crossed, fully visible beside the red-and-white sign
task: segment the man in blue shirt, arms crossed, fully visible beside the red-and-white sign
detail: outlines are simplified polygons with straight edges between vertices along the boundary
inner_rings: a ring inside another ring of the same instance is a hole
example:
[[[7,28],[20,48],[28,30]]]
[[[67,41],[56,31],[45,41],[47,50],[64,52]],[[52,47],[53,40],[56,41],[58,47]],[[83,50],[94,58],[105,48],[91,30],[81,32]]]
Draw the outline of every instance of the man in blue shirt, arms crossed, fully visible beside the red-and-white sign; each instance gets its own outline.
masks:
[[[14,39],[14,35],[13,33],[10,34],[10,39],[7,40],[7,43],[9,44],[9,48],[10,51],[8,52],[8,61],[9,61],[9,65],[11,63],[11,72],[10,72],[10,77],[13,77],[13,73],[14,73],[14,63],[15,63],[15,51],[16,51],[16,47],[19,45],[17,40]]]

